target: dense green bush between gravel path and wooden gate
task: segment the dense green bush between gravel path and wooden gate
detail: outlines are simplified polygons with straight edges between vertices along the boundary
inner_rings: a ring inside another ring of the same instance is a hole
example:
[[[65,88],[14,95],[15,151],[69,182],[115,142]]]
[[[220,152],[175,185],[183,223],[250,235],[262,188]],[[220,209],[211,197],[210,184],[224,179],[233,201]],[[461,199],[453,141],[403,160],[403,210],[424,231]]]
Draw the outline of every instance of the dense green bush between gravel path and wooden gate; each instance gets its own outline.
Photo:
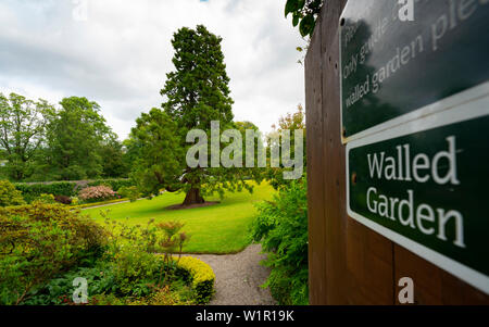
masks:
[[[272,274],[264,287],[284,305],[308,304],[308,186],[305,178],[283,188],[273,202],[259,205],[251,226],[253,241],[262,242]]]

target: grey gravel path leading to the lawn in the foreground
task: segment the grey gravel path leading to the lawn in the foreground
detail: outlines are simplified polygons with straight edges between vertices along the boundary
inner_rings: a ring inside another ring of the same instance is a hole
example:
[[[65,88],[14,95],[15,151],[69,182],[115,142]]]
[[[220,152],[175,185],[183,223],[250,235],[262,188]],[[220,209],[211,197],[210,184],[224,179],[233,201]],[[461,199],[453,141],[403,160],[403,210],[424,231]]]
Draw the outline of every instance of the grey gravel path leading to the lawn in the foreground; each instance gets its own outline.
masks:
[[[214,299],[210,305],[275,305],[276,302],[263,285],[269,269],[260,265],[266,257],[262,247],[252,244],[233,255],[191,255],[209,264],[215,274]]]

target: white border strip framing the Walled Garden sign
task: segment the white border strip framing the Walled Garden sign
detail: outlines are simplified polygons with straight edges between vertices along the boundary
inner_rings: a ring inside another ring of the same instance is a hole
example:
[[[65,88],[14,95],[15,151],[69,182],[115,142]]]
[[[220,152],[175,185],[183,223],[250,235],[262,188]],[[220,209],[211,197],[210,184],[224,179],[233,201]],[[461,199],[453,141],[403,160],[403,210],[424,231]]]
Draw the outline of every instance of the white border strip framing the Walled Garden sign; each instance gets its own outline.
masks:
[[[489,294],[489,276],[486,276],[464,264],[461,264],[429,248],[426,248],[425,246],[422,246],[421,243],[417,243],[396,231],[392,231],[351,210],[349,155],[350,150],[359,147],[364,147],[367,144],[381,142],[397,137],[412,135],[415,133],[425,131],[437,127],[442,127],[489,115],[489,95],[487,92],[488,89],[489,84],[484,84],[479,87],[459,93],[455,97],[457,99],[453,99],[453,97],[447,98],[430,105],[430,108],[434,109],[437,108],[447,109],[442,112],[438,112],[435,114],[434,112],[430,112],[430,114],[426,116],[424,120],[417,120],[409,124],[397,126],[396,128],[392,129],[384,130],[384,133],[371,135],[363,139],[352,141],[347,146],[347,207],[349,216],[351,216],[359,223],[365,225],[366,227],[377,231],[384,237],[392,240],[393,242],[400,244],[401,247],[404,247],[405,249],[414,252],[415,254],[422,256],[423,259],[434,263],[435,265],[449,272],[450,274],[459,277],[460,279],[472,285],[473,287],[484,291],[487,294]],[[455,103],[460,103],[459,106],[456,106]],[[416,113],[416,116],[417,115],[418,113]],[[418,117],[422,116],[423,115]],[[489,260],[489,259],[481,257],[480,260]]]

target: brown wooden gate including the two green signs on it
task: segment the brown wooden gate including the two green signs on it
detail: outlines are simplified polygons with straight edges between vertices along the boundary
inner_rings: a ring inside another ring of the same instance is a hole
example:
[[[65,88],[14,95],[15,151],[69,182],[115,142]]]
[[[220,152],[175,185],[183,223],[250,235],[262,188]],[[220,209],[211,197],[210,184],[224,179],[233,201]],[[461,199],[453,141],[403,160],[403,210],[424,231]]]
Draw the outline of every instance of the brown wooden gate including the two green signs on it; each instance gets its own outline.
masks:
[[[489,304],[489,3],[405,3],[327,0],[312,37],[311,304],[397,304],[403,277]]]

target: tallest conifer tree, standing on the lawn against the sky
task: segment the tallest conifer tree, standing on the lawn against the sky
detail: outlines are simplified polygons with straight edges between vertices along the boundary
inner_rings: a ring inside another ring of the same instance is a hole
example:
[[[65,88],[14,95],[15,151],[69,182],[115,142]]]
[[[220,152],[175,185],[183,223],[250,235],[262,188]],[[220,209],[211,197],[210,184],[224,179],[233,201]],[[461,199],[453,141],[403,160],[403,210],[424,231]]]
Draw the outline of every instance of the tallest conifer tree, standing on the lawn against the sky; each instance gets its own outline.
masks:
[[[186,142],[189,130],[204,130],[211,140],[212,121],[220,122],[221,131],[235,127],[229,77],[221,42],[221,37],[202,25],[196,29],[180,28],[172,40],[175,71],[166,75],[165,86],[161,90],[164,97],[162,108],[177,125],[176,136],[184,153],[192,146]],[[184,205],[204,203],[204,196],[214,192],[222,196],[225,189],[252,190],[244,181],[244,176],[249,175],[246,169],[211,167],[211,155],[208,165],[195,168],[187,166],[185,154],[179,162],[180,174],[162,187],[168,191],[186,191]],[[165,171],[173,174],[170,169]]]

